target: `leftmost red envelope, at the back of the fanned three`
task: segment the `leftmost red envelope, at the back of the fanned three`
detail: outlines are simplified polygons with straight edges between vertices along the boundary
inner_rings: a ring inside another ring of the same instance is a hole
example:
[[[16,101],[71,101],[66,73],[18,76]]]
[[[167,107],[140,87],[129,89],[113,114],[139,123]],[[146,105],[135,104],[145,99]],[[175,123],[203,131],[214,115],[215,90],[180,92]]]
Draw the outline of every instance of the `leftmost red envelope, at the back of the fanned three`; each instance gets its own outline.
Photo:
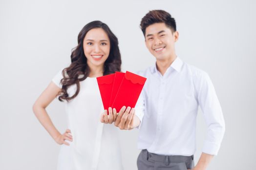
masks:
[[[97,77],[104,109],[108,110],[115,74]]]

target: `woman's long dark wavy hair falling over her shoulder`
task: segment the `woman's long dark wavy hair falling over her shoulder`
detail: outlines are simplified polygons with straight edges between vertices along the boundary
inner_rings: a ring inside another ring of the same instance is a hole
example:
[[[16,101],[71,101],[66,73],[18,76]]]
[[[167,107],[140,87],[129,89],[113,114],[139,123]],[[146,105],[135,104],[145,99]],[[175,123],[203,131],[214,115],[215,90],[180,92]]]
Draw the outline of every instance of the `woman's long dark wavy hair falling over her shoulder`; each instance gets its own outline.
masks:
[[[70,101],[74,99],[80,91],[80,83],[85,80],[89,75],[89,67],[85,57],[83,42],[85,35],[94,28],[102,28],[110,40],[110,52],[107,60],[104,63],[103,75],[114,73],[121,70],[121,54],[118,47],[118,39],[108,28],[107,24],[101,21],[92,21],[84,26],[78,34],[78,45],[72,50],[71,64],[69,67],[64,68],[62,71],[63,79],[61,80],[62,90],[59,92],[60,101]],[[67,88],[70,85],[76,84],[76,92],[73,96],[67,94]]]

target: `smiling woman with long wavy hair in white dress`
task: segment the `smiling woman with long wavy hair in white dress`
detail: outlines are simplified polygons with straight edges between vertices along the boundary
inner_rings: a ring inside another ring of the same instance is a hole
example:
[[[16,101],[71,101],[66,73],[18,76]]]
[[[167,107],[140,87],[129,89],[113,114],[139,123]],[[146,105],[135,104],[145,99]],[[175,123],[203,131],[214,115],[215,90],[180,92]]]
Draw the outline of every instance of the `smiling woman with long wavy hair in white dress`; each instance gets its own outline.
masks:
[[[117,128],[99,121],[104,108],[96,80],[120,70],[116,36],[101,21],[85,25],[71,53],[70,66],[53,78],[33,106],[50,136],[64,144],[59,154],[59,170],[123,169]],[[55,128],[45,110],[57,95],[65,102],[68,118],[64,134]]]

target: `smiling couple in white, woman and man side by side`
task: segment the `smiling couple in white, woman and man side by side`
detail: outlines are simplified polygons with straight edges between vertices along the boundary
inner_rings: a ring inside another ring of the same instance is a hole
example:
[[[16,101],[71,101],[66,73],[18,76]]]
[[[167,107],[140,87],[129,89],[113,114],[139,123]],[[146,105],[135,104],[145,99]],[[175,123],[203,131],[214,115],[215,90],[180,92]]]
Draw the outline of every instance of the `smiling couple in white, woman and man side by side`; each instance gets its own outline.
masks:
[[[43,127],[58,144],[64,144],[58,170],[122,170],[117,127],[139,128],[139,170],[205,170],[217,154],[225,123],[208,74],[176,56],[179,34],[169,13],[149,11],[140,26],[156,64],[138,72],[147,81],[135,108],[124,106],[119,113],[109,108],[109,115],[106,110],[102,113],[96,77],[120,71],[121,55],[116,36],[100,21],[85,25],[70,66],[59,71],[34,103]],[[68,129],[64,134],[45,110],[56,96],[65,103]],[[208,134],[194,167],[198,106]]]

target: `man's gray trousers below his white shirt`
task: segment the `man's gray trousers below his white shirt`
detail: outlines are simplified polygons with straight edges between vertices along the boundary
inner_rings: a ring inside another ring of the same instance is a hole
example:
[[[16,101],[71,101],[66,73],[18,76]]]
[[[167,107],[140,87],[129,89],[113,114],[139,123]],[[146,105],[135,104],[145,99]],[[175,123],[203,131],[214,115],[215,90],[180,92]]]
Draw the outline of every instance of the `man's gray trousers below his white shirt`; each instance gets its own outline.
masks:
[[[192,156],[165,156],[142,150],[137,159],[138,170],[188,170],[194,168]]]

